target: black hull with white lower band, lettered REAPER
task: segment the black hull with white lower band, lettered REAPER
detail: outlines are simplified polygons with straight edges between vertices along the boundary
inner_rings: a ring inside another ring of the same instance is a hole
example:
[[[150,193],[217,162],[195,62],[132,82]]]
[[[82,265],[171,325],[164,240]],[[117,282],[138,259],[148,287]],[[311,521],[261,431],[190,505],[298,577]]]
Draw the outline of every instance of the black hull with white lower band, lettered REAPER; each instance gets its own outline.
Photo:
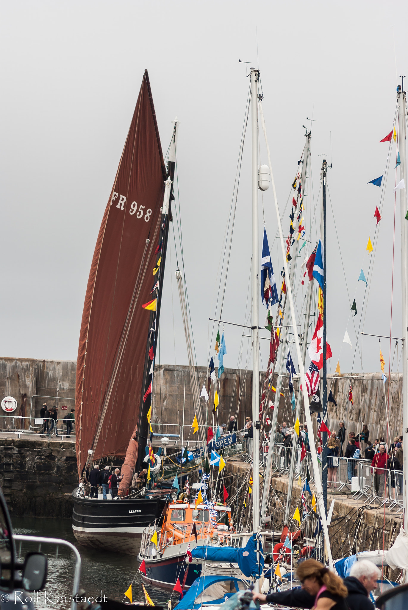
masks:
[[[163,519],[163,498],[96,500],[78,497],[77,491],[73,491],[73,533],[87,547],[137,555],[143,530]]]

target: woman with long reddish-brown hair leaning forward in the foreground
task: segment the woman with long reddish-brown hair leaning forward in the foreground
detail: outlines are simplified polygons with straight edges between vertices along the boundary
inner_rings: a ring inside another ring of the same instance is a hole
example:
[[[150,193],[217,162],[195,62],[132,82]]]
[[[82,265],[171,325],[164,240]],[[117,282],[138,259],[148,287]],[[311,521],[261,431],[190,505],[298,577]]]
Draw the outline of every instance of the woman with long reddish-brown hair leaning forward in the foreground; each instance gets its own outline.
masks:
[[[273,603],[293,608],[314,610],[347,610],[348,590],[340,576],[336,576],[315,559],[306,559],[296,569],[302,589],[291,589],[270,595],[254,593],[254,601]]]

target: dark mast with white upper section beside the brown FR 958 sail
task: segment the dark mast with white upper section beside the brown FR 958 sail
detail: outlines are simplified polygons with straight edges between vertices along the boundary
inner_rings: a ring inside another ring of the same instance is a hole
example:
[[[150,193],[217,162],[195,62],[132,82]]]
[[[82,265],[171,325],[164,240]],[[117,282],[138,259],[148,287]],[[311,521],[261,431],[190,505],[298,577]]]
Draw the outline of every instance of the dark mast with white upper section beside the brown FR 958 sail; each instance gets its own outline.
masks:
[[[153,383],[153,377],[149,378],[149,371],[151,369],[151,365],[156,359],[156,346],[157,346],[157,337],[159,337],[159,320],[160,320],[160,306],[162,304],[162,292],[163,292],[163,276],[166,264],[166,251],[167,251],[167,242],[168,242],[168,231],[170,226],[170,220],[173,220],[171,217],[171,201],[174,199],[173,195],[173,181],[174,181],[174,171],[176,169],[176,145],[177,145],[177,118],[174,120],[173,126],[173,134],[171,136],[170,143],[170,151],[168,155],[168,165],[167,165],[167,179],[165,181],[165,192],[163,196],[163,207],[162,207],[162,219],[160,222],[160,236],[159,236],[159,244],[162,243],[161,250],[157,253],[157,262],[160,261],[159,270],[157,272],[157,281],[159,282],[159,288],[157,289],[157,306],[156,311],[152,311],[150,313],[150,321],[149,321],[149,335],[146,344],[146,354],[145,354],[145,367],[143,368],[143,385],[141,387],[141,397],[140,397],[140,410],[139,410],[139,419],[138,419],[138,427],[137,427],[137,443],[138,443],[138,454],[137,454],[137,462],[136,469],[139,470],[141,464],[143,462],[143,458],[145,458],[144,448],[148,441],[149,437],[149,424],[147,420],[147,414],[152,404],[153,397],[153,389],[151,393],[146,397],[146,400],[143,401],[143,397],[145,396],[146,391],[148,390],[149,384]],[[149,352],[153,348],[153,361],[149,356]]]

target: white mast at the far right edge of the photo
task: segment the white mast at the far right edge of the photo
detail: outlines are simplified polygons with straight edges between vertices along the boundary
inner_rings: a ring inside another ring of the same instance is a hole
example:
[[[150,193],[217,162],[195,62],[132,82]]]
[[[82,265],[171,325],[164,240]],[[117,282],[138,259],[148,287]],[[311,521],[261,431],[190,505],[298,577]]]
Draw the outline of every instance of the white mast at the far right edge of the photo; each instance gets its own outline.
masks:
[[[398,85],[398,132],[399,132],[399,179],[404,181],[404,188],[399,189],[401,206],[401,296],[403,301],[403,437],[404,437],[404,530],[407,531],[407,510],[408,510],[408,363],[407,363],[407,343],[408,343],[408,282],[407,282],[407,248],[408,248],[408,223],[407,213],[407,140],[406,140],[406,92],[403,83]],[[408,580],[408,570],[405,572],[406,581]]]

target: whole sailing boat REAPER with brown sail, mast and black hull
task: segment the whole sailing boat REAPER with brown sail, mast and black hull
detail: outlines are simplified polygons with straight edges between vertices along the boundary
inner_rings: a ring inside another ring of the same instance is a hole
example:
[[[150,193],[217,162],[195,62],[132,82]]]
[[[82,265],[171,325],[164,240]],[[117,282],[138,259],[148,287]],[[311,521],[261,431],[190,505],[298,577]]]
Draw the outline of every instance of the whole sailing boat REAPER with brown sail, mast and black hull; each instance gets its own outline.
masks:
[[[80,481],[91,462],[115,457],[124,464],[119,501],[87,498],[83,483],[74,490],[74,535],[81,544],[125,553],[137,553],[134,538],[165,506],[160,490],[126,494],[149,433],[176,135],[177,121],[166,168],[145,70],[93,255],[76,378]]]

